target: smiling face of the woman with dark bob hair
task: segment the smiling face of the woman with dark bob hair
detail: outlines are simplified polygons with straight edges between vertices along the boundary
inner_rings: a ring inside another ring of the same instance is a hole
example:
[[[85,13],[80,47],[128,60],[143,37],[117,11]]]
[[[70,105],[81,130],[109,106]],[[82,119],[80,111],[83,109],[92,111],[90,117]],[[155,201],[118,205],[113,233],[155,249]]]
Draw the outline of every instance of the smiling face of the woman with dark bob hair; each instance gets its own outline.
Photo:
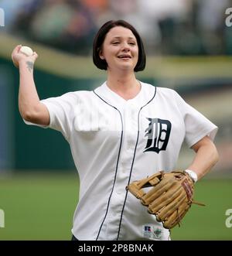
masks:
[[[107,70],[133,70],[138,63],[138,43],[133,32],[122,26],[112,28],[104,39],[100,52]]]

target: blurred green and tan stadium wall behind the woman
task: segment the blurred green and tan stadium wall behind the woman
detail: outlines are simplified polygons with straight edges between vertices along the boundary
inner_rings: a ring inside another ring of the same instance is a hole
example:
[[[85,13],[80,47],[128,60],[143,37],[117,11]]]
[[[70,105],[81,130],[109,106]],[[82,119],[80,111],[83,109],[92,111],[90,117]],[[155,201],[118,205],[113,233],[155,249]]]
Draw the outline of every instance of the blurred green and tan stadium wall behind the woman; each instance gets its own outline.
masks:
[[[41,44],[0,33],[0,173],[49,169],[74,169],[70,148],[56,131],[25,125],[18,110],[19,71],[11,60],[15,45],[31,46],[39,54],[35,81],[41,99],[70,90],[92,90],[105,80],[91,57],[74,56]],[[194,108],[218,127],[220,162],[208,176],[230,176],[232,168],[232,57],[148,56],[138,79],[177,90]],[[184,145],[177,168],[193,156]]]

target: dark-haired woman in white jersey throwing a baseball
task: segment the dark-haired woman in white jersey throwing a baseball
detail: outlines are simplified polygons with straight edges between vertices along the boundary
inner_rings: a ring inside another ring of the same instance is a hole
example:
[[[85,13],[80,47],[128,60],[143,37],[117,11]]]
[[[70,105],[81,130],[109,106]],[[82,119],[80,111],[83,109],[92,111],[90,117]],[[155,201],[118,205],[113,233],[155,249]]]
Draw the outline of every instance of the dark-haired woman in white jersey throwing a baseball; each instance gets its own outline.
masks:
[[[19,111],[29,123],[61,131],[80,176],[73,240],[169,240],[169,230],[125,187],[159,170],[175,169],[186,139],[196,152],[187,166],[196,182],[217,162],[217,126],[174,90],[138,81],[145,68],[142,39],[125,21],[110,21],[94,39],[94,64],[107,81],[39,101],[32,70],[37,54],[12,53],[19,67]],[[151,232],[148,232],[148,231]]]

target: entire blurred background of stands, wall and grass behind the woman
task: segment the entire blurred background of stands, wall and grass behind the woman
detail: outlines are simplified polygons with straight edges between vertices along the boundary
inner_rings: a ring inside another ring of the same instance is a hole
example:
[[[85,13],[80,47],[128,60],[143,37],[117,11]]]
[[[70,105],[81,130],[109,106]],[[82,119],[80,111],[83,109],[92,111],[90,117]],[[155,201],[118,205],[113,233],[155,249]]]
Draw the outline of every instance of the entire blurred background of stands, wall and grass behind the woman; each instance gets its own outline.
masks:
[[[232,26],[225,24],[232,2],[162,4],[0,0],[5,13],[5,26],[0,24],[0,240],[70,240],[79,193],[62,135],[25,125],[19,115],[12,49],[28,45],[39,54],[35,81],[41,99],[92,90],[106,77],[91,60],[94,32],[104,19],[126,19],[142,34],[148,61],[138,79],[177,90],[219,127],[220,161],[196,184],[195,198],[206,207],[193,205],[181,227],[172,230],[172,240],[232,240],[232,227],[226,225],[226,211],[232,209]],[[184,144],[176,168],[192,159]]]

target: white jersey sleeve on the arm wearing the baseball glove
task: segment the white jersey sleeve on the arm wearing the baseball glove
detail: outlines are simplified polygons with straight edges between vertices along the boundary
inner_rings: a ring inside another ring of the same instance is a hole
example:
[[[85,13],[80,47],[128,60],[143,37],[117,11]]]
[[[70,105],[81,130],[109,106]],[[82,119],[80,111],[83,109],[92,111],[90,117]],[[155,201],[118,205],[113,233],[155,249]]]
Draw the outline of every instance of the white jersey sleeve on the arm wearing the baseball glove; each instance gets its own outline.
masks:
[[[183,114],[183,120],[186,128],[185,140],[189,148],[206,135],[213,141],[217,134],[217,125],[214,125],[208,118],[190,106],[175,92],[176,102],[179,105],[179,111]]]

